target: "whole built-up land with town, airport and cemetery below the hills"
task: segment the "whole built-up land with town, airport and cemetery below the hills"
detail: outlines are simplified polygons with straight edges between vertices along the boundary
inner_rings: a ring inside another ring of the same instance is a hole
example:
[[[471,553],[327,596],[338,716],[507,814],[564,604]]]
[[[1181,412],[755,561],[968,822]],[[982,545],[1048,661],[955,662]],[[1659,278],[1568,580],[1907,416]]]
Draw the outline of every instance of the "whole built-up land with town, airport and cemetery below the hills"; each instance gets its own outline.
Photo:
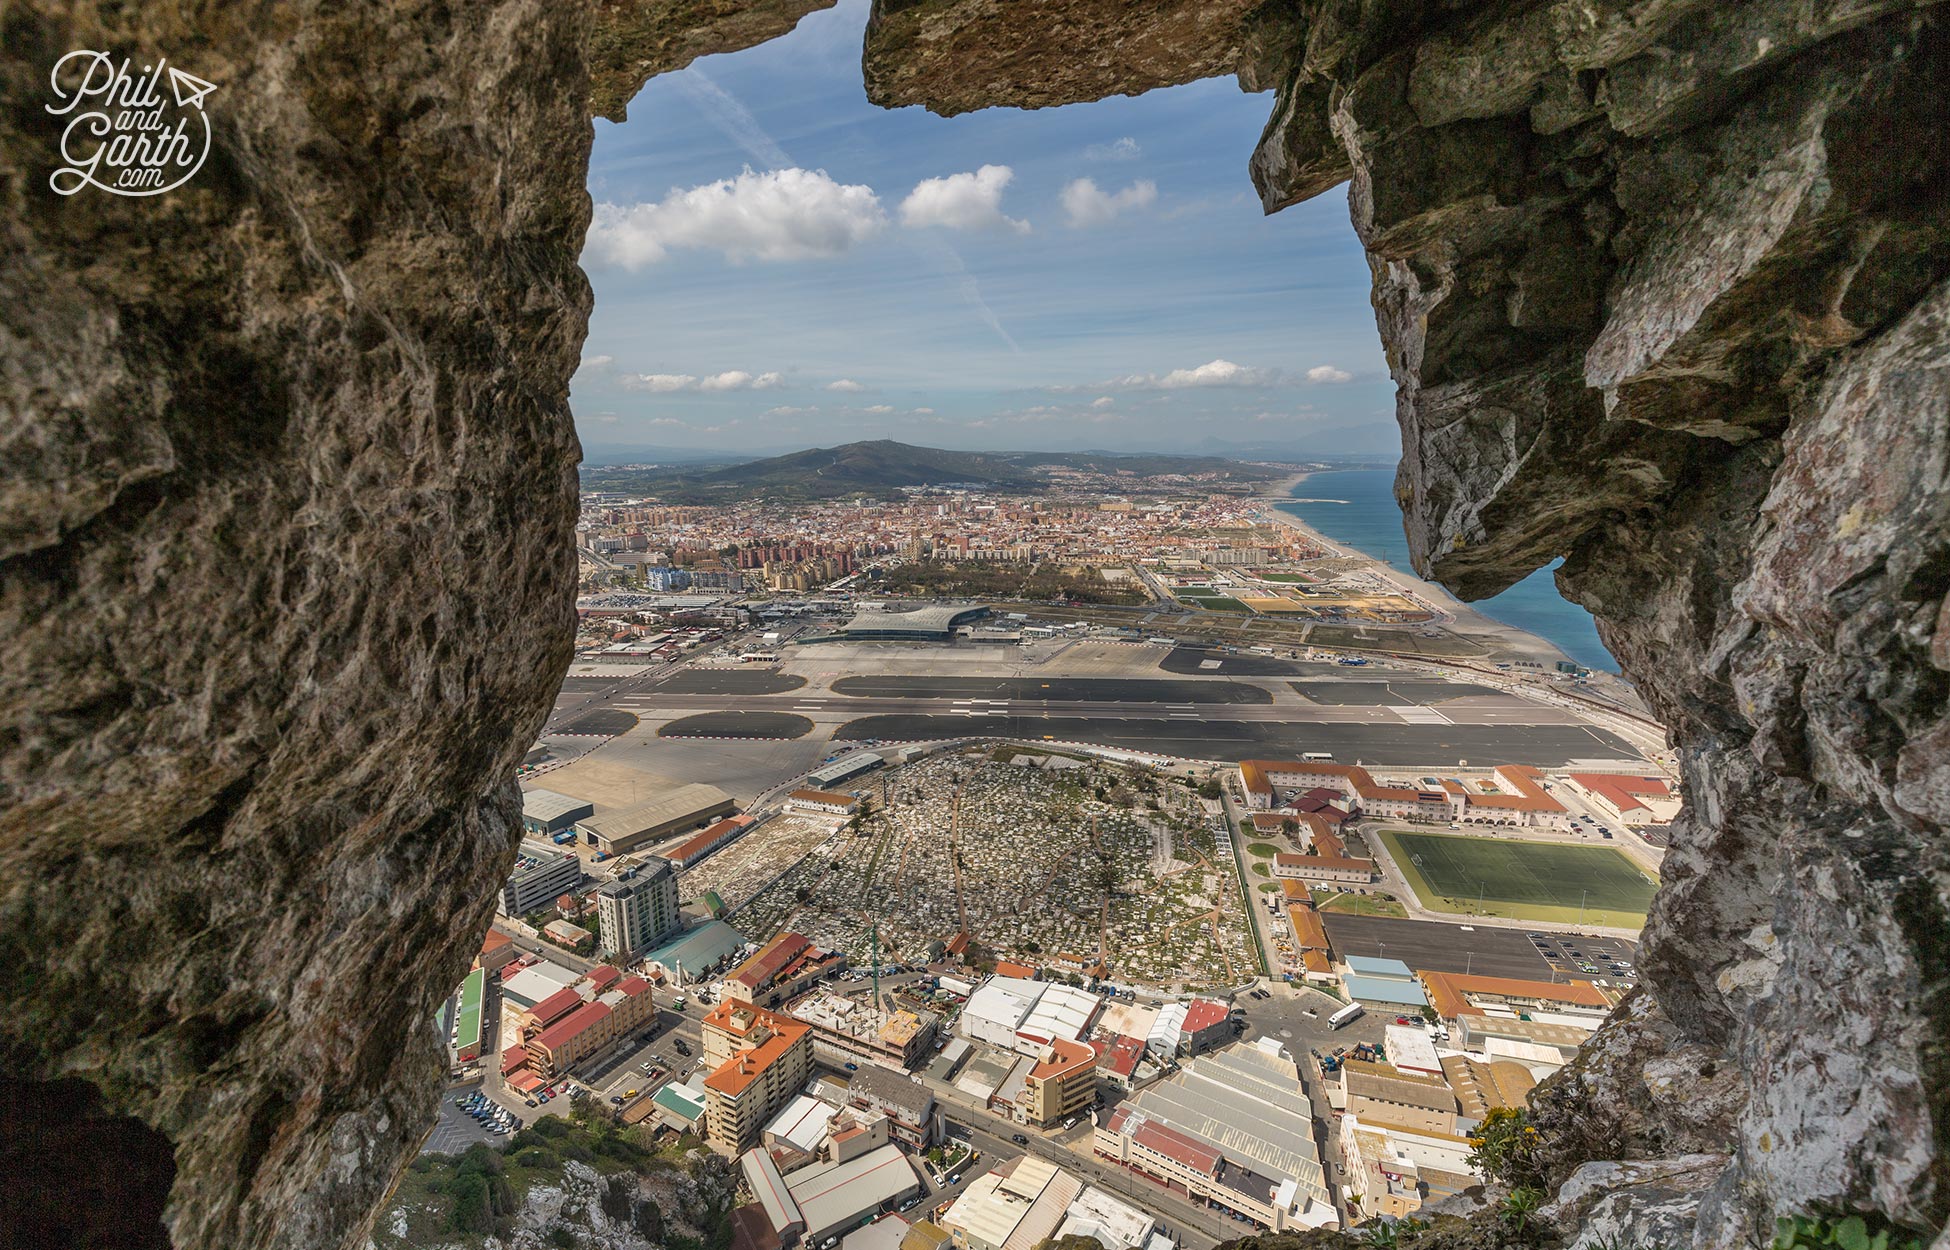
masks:
[[[1108,503],[591,501],[427,1151],[702,1151],[741,1250],[1207,1250],[1482,1184],[1638,979],[1661,731],[1412,585],[1355,606],[1250,499]],[[938,593],[1051,562],[1129,616]]]

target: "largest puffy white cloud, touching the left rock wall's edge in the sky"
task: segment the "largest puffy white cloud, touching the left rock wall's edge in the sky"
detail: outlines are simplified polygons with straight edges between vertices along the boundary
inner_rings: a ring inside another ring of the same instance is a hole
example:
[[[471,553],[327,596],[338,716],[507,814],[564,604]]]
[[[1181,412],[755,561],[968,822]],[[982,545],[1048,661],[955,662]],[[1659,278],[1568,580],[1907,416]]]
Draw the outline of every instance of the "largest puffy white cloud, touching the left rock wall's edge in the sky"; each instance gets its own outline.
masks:
[[[825,170],[772,170],[671,191],[653,205],[597,205],[587,255],[642,269],[673,248],[716,248],[733,261],[838,255],[887,224],[872,187]]]

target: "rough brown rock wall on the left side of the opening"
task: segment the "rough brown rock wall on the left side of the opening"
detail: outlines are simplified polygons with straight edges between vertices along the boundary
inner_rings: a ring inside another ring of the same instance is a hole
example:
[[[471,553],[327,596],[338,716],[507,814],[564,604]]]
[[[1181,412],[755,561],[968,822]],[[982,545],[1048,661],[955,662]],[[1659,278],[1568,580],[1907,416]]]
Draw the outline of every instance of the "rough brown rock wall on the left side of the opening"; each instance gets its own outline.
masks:
[[[78,1119],[8,1232],[31,1201],[18,1244],[158,1242],[136,1119],[176,1244],[351,1244],[429,1127],[569,655],[585,14],[0,23],[0,1055]],[[49,189],[70,49],[218,84],[187,187]]]

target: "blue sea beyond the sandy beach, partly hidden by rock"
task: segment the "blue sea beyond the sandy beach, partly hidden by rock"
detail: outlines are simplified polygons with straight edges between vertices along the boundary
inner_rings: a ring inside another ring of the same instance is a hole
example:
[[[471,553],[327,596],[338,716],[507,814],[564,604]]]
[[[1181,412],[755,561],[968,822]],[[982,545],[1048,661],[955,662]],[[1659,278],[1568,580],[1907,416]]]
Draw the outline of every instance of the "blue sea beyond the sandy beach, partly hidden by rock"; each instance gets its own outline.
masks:
[[[1402,532],[1402,509],[1394,501],[1392,468],[1312,474],[1293,488],[1293,495],[1295,503],[1281,503],[1279,511],[1293,513],[1334,542],[1346,542],[1363,556],[1414,573],[1408,564],[1408,538]],[[1301,499],[1342,499],[1344,503],[1301,503]],[[1558,595],[1558,583],[1550,577],[1550,569],[1537,569],[1502,595],[1482,599],[1472,606],[1507,626],[1554,642],[1581,665],[1607,673],[1618,671],[1618,661],[1597,640],[1591,614]]]

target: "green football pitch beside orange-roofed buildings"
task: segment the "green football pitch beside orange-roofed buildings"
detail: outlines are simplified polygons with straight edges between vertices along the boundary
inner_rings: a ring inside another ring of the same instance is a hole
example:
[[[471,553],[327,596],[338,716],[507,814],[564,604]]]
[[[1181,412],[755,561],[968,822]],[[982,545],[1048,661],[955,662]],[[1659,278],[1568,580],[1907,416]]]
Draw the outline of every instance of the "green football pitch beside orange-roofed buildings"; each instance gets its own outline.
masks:
[[[1396,868],[1429,911],[1540,924],[1646,922],[1658,879],[1611,846],[1383,829]]]

